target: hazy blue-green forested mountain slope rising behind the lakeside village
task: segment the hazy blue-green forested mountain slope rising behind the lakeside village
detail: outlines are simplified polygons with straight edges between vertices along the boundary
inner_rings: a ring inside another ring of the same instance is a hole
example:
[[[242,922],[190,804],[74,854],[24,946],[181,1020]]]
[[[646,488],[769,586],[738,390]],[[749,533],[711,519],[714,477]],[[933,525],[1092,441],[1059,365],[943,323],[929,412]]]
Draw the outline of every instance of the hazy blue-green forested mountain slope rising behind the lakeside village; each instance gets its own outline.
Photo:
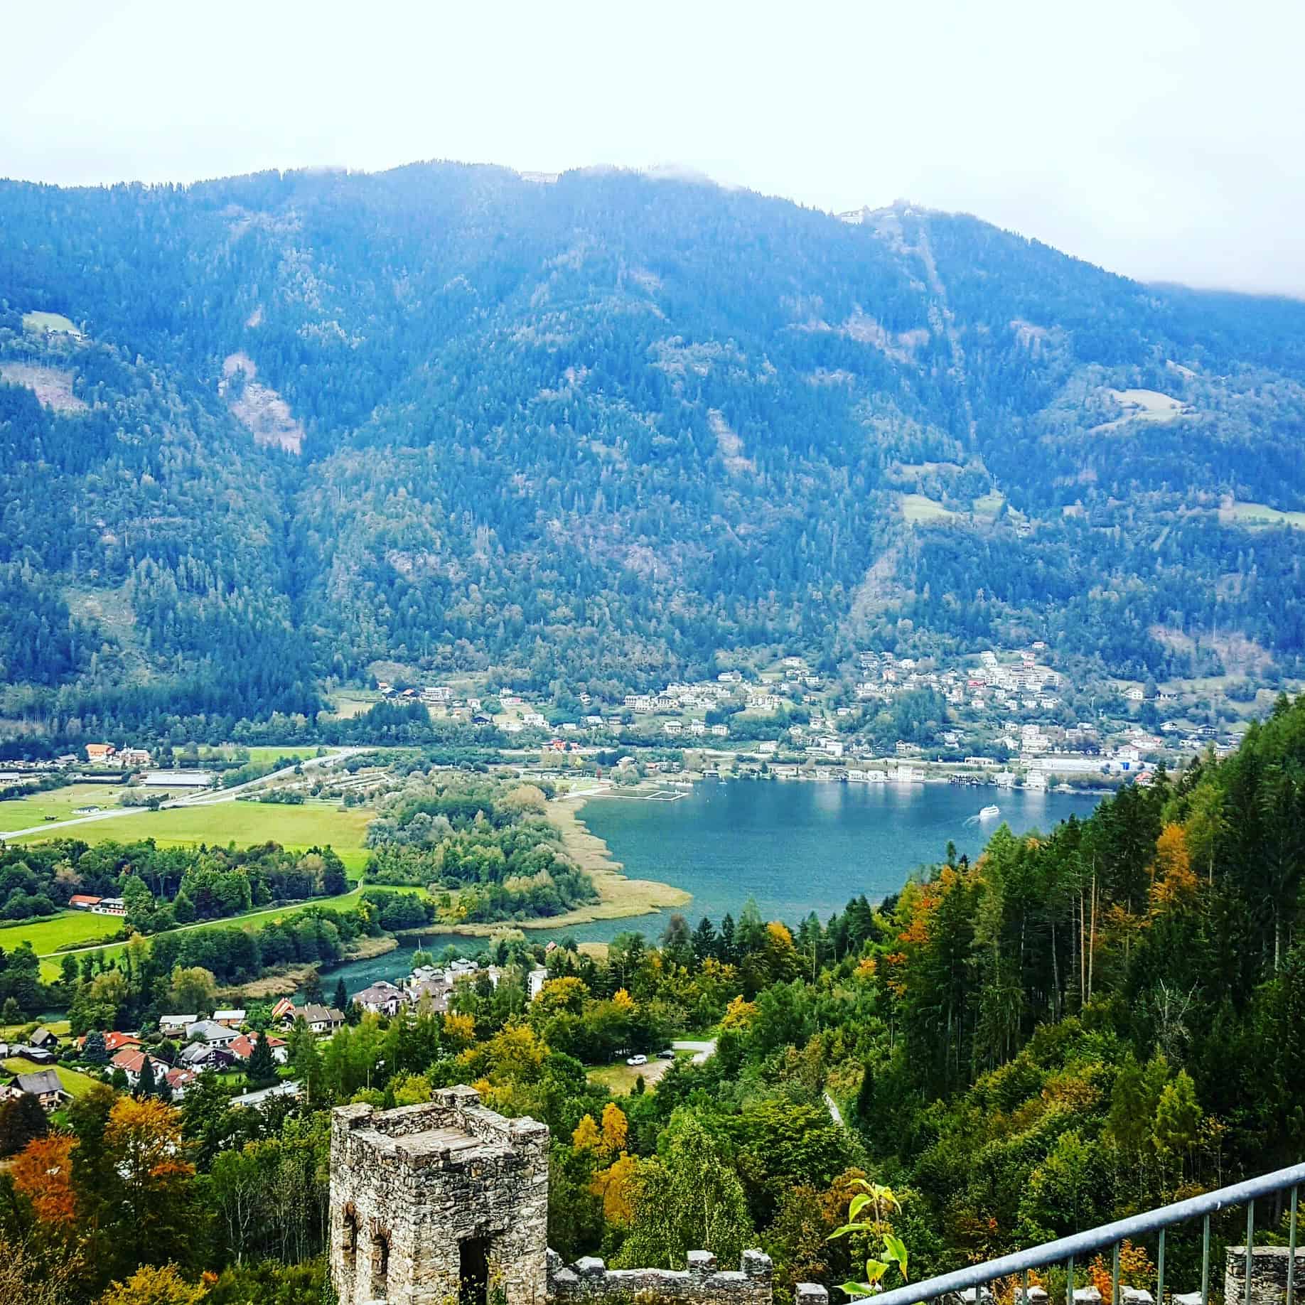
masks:
[[[616,693],[761,645],[1305,646],[1263,519],[1305,508],[1305,304],[968,217],[455,164],[3,183],[0,376],[8,716],[311,713],[381,656]]]

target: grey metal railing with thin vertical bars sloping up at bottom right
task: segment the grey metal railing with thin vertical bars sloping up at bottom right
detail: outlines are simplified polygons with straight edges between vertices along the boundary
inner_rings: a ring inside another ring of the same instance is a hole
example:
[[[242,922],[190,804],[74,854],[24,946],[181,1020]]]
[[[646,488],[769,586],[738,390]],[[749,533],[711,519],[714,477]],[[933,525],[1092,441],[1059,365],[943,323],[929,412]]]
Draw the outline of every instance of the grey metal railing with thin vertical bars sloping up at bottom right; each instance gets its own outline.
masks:
[[[1113,1267],[1111,1272],[1111,1305],[1120,1305],[1120,1246],[1128,1240],[1144,1237],[1147,1233],[1159,1233],[1156,1254],[1156,1305],[1164,1305],[1164,1235],[1174,1224],[1186,1223],[1189,1219],[1203,1219],[1202,1245],[1201,1245],[1201,1305],[1210,1302],[1210,1216],[1227,1210],[1231,1206],[1246,1206],[1246,1284],[1245,1300],[1242,1305],[1250,1305],[1250,1280],[1253,1268],[1253,1251],[1255,1245],[1255,1201],[1259,1197],[1275,1195],[1279,1191],[1291,1191],[1291,1216],[1288,1227],[1287,1250],[1287,1302],[1296,1305],[1296,1207],[1300,1185],[1305,1184],[1305,1164],[1296,1164],[1287,1169],[1276,1169],[1272,1173],[1261,1174],[1258,1178],[1248,1178],[1245,1182],[1233,1184],[1231,1188],[1219,1188],[1216,1191],[1206,1191],[1199,1197],[1188,1201],[1174,1202],[1172,1206],[1160,1206],[1158,1210],[1148,1210],[1146,1214],[1133,1215],[1129,1219],[1117,1219],[1114,1223],[1101,1224],[1087,1232],[1074,1233],[1071,1237],[1061,1237],[1057,1241],[1043,1242],[1040,1246],[1031,1246],[1028,1250],[1015,1251],[1013,1255],[1002,1255],[1000,1259],[989,1259],[981,1265],[970,1265],[958,1268],[951,1274],[941,1274],[937,1278],[927,1278],[919,1283],[907,1283],[904,1287],[895,1287],[893,1291],[882,1292],[873,1297],[874,1305],[920,1305],[921,1301],[933,1301],[949,1296],[953,1292],[974,1289],[975,1305],[981,1305],[984,1288],[990,1288],[994,1283],[1005,1278],[1022,1278],[1022,1291],[1017,1291],[1017,1305],[1028,1305],[1028,1274],[1034,1268],[1048,1266],[1062,1266],[1066,1271],[1065,1301],[1074,1305],[1074,1262],[1083,1261],[1095,1251],[1109,1246],[1113,1251]],[[992,1293],[993,1296],[996,1293]],[[1225,1301],[1224,1305],[1236,1305]]]

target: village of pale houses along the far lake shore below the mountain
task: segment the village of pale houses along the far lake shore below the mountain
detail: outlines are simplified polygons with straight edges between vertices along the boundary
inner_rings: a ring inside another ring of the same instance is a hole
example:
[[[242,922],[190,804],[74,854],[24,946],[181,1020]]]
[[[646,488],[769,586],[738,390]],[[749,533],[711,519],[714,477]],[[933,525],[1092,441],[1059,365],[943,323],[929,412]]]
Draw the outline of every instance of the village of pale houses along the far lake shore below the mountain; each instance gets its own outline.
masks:
[[[594,770],[617,782],[705,774],[1028,790],[1146,784],[1160,765],[1228,753],[1244,728],[1241,703],[1218,686],[1081,684],[1052,660],[1040,641],[951,659],[865,651],[839,673],[784,655],[620,701],[385,680],[376,692],[497,731],[504,760],[538,753],[542,774]]]

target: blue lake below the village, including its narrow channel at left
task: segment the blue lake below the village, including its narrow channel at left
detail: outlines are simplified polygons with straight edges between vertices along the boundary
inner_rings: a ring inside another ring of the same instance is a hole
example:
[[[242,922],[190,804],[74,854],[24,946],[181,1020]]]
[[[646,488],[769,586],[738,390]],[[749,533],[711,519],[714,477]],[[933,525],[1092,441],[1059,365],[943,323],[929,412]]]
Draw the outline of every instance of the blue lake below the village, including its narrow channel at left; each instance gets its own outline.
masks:
[[[706,780],[675,801],[591,799],[582,818],[632,878],[660,880],[693,894],[683,907],[690,924],[707,915],[719,925],[736,919],[749,897],[762,919],[796,924],[814,911],[821,920],[864,893],[878,902],[920,865],[941,861],[947,842],[974,857],[1002,822],[1017,834],[1051,830],[1069,816],[1091,814],[1099,793],[1048,793],[968,788],[959,784],[839,784]],[[1001,806],[997,820],[977,821],[980,808]],[[595,920],[569,929],[530,929],[547,942],[573,937],[606,942],[630,929],[656,938],[668,912]],[[479,940],[432,933],[475,950]],[[411,946],[342,966],[325,977],[330,992],[343,976],[350,992],[411,970]]]

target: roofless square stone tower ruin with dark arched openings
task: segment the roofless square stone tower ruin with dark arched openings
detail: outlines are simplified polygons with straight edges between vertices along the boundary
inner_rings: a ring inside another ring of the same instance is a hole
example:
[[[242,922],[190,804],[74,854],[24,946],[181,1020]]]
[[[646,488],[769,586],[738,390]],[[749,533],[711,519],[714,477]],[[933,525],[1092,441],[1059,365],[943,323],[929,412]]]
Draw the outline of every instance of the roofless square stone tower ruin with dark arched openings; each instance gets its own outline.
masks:
[[[471,1087],[331,1116],[330,1268],[341,1305],[544,1305],[548,1128]]]

